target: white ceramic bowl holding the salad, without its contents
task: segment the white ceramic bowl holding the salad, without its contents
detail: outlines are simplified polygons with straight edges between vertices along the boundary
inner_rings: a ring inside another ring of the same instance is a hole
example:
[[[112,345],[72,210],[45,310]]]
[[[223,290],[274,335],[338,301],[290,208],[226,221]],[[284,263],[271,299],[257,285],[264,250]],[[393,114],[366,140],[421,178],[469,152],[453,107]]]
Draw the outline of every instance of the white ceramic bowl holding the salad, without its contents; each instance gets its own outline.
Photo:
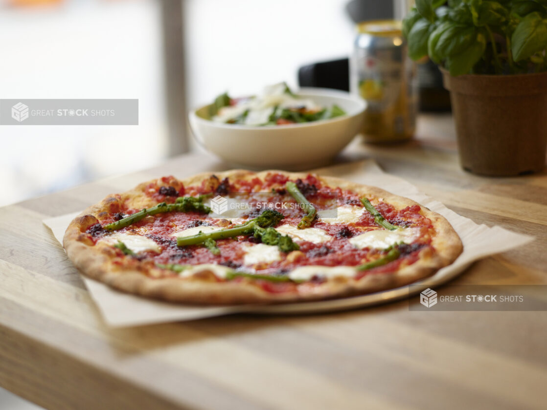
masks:
[[[199,144],[233,165],[298,170],[329,163],[359,132],[365,102],[344,91],[302,88],[297,94],[323,107],[336,104],[346,115],[305,124],[255,127],[221,124],[204,106],[189,114]]]

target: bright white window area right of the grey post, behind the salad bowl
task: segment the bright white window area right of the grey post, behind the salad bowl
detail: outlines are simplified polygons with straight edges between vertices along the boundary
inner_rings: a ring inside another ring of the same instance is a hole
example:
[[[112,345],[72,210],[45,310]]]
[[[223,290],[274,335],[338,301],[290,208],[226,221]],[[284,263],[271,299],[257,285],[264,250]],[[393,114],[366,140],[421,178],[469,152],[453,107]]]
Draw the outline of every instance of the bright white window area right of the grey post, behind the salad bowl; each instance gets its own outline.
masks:
[[[188,106],[298,83],[298,68],[347,57],[348,0],[185,0]]]

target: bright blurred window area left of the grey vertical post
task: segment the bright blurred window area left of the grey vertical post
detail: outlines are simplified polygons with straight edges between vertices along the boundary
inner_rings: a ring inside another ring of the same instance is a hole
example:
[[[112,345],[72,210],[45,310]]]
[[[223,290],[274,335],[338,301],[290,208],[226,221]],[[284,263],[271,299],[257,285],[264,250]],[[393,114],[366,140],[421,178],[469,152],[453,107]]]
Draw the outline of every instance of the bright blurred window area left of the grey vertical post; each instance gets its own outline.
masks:
[[[165,157],[155,1],[4,4],[0,51],[0,98],[139,99],[138,126],[0,126],[0,205]]]

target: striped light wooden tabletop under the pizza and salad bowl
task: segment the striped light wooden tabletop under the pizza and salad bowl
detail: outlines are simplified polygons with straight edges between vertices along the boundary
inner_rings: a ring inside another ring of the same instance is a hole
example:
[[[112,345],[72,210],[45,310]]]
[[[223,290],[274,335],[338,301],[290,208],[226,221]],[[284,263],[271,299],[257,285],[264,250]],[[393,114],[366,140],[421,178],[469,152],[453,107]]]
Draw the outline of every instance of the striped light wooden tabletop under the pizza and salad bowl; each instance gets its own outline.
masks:
[[[461,171],[450,117],[414,142],[363,147],[456,212],[537,241],[457,284],[547,283],[547,176]],[[0,209],[0,385],[49,409],[544,409],[547,312],[411,312],[402,301],[303,317],[236,315],[108,329],[42,219],[163,174],[226,166],[177,157],[148,171]]]

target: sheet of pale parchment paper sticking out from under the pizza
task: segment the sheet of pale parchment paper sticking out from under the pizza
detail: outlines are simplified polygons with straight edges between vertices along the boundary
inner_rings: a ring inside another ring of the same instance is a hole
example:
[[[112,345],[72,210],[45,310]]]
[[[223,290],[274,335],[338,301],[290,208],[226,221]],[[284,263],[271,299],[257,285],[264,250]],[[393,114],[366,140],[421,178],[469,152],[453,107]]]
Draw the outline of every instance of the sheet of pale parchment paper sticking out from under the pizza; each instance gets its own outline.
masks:
[[[454,227],[463,242],[463,253],[452,265],[444,267],[434,276],[423,281],[427,283],[443,283],[461,274],[472,262],[482,257],[493,255],[519,247],[531,242],[534,238],[520,233],[508,231],[500,226],[488,227],[477,225],[468,218],[446,208],[439,201],[422,194],[418,189],[399,177],[386,174],[373,160],[353,162],[334,167],[321,168],[313,172],[344,178],[356,183],[381,186],[383,189],[400,196],[408,197],[423,206],[443,215]],[[127,186],[127,189],[133,188]],[[72,213],[56,218],[44,219],[53,235],[62,243],[63,235],[68,224],[79,213]],[[104,320],[110,326],[136,326],[167,321],[194,320],[230,314],[235,312],[248,312],[253,306],[234,307],[196,307],[184,304],[154,301],[139,296],[124,294],[109,288],[96,280],[82,275],[91,297],[97,303]],[[390,293],[391,292],[391,293]],[[374,300],[385,302],[393,291],[381,292],[385,297],[375,297]],[[400,295],[400,292],[399,292]],[[370,304],[370,303],[369,303]]]

